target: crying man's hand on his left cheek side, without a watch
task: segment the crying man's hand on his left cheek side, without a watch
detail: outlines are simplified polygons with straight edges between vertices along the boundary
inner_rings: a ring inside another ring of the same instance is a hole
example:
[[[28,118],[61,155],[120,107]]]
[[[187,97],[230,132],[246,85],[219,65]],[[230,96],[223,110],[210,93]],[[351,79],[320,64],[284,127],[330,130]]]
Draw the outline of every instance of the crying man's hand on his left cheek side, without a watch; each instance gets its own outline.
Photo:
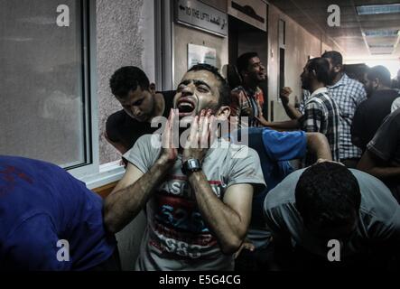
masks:
[[[162,135],[162,151],[160,154],[160,159],[165,161],[166,163],[174,163],[176,158],[178,157],[178,144],[174,144],[174,135],[179,134],[178,131],[174,132],[174,122],[178,120],[177,109],[171,109],[170,117],[168,117],[167,125]]]

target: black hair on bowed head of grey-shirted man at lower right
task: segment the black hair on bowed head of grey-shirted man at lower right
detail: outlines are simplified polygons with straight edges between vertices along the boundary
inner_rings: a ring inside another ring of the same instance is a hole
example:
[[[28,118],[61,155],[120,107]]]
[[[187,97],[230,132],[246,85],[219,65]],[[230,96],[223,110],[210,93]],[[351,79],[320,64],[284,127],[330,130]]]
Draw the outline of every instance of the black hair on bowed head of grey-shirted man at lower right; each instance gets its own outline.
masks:
[[[340,163],[312,165],[299,178],[295,189],[296,208],[304,226],[339,228],[358,215],[361,203],[354,175]]]

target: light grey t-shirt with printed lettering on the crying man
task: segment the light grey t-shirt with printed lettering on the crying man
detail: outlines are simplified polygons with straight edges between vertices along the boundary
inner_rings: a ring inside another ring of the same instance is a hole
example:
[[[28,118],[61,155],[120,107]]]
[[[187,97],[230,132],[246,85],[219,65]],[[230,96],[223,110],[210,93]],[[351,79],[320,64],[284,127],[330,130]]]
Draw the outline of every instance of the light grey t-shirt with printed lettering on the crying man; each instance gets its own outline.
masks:
[[[260,160],[253,149],[225,140],[218,143],[219,147],[207,152],[202,172],[220,200],[234,184],[257,184],[259,189],[265,186]],[[148,172],[158,159],[160,144],[161,135],[144,135],[124,157],[140,171]],[[146,216],[137,270],[233,269],[233,256],[222,254],[217,238],[201,217],[194,192],[181,172],[181,156],[148,200]]]

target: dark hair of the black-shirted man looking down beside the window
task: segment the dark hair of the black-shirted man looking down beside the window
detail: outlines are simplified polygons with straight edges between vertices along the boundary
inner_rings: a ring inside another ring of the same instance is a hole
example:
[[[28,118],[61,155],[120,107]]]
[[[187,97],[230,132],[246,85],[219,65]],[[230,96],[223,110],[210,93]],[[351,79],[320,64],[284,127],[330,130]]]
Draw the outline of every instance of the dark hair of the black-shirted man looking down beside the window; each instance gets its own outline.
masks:
[[[110,79],[111,92],[118,98],[126,98],[129,91],[135,91],[138,86],[142,90],[148,90],[149,85],[144,71],[135,66],[121,67]]]

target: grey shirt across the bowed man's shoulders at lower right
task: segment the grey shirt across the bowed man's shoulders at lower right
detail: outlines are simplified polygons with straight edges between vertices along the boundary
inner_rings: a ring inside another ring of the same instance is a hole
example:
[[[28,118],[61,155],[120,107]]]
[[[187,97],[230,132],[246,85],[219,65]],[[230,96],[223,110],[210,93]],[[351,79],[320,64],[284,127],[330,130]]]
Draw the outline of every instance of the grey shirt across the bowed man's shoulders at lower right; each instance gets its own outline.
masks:
[[[358,226],[342,247],[342,256],[362,252],[374,242],[400,240],[400,209],[383,182],[358,170],[350,171],[358,180],[361,206]],[[316,256],[327,256],[327,243],[312,236],[296,209],[294,191],[304,169],[293,172],[265,198],[265,218],[274,233],[289,234],[294,243]]]

